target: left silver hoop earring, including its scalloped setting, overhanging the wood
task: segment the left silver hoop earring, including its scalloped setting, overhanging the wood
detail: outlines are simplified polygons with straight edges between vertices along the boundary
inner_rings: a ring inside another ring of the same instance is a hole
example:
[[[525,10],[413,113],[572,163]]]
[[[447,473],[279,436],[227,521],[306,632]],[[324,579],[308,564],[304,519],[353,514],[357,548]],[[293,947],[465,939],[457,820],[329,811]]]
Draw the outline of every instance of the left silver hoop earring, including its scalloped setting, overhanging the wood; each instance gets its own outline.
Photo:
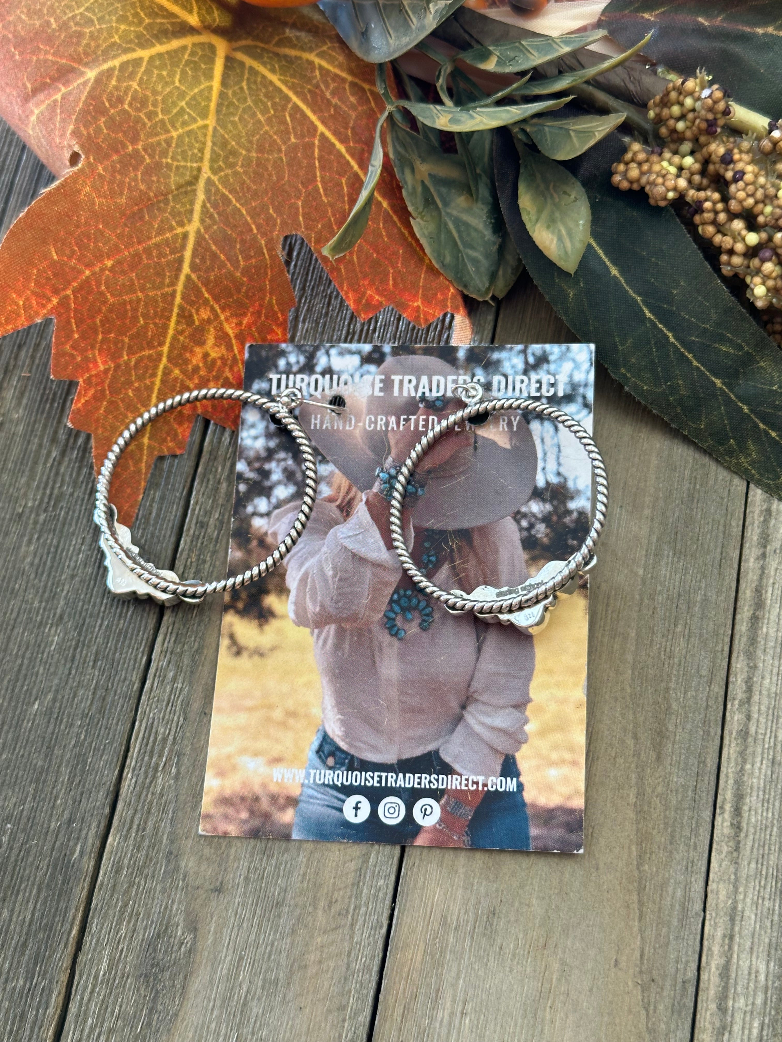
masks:
[[[130,529],[117,522],[117,511],[108,501],[108,490],[112,475],[120,456],[141,430],[149,426],[157,417],[164,416],[174,408],[179,408],[181,405],[213,400],[238,401],[242,404],[256,405],[269,414],[269,418],[275,425],[290,431],[299,447],[303,462],[303,500],[291,530],[265,561],[249,568],[241,575],[234,575],[231,578],[219,581],[180,580],[175,572],[155,568],[154,565],[139,555],[139,547],[132,543]],[[317,461],[312,442],[293,415],[293,410],[301,404],[301,392],[295,389],[284,391],[275,398],[264,398],[262,395],[251,394],[249,391],[239,391],[231,388],[203,388],[158,402],[148,412],[138,416],[122,431],[109,449],[100,469],[93,515],[95,523],[100,528],[100,548],[103,551],[107,572],[106,586],[113,594],[122,598],[138,597],[141,600],[151,597],[165,605],[175,604],[180,600],[189,603],[200,603],[206,594],[238,590],[263,575],[268,575],[285,560],[307,527],[318,490]],[[323,405],[323,407],[332,412],[342,412],[341,408],[333,404]]]

